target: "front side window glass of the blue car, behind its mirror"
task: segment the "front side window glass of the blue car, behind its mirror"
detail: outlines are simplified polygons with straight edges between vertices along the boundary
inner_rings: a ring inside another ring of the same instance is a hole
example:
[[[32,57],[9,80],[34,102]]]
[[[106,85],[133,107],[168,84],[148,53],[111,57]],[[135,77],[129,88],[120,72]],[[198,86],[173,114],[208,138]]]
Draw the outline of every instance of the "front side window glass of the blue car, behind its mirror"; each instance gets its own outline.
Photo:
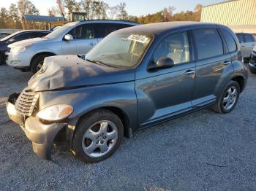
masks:
[[[154,61],[165,57],[173,59],[174,64],[190,61],[187,32],[172,34],[160,42],[154,52]]]

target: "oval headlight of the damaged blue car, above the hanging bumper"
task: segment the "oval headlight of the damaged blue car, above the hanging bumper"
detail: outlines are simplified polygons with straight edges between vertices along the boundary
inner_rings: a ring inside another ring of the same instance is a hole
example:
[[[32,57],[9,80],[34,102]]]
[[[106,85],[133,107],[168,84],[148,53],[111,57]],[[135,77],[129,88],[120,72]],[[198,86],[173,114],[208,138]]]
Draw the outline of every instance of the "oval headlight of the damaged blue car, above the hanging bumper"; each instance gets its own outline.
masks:
[[[69,106],[68,104],[57,104],[40,110],[37,113],[37,117],[41,120],[58,121],[68,117],[72,112],[72,106]]]

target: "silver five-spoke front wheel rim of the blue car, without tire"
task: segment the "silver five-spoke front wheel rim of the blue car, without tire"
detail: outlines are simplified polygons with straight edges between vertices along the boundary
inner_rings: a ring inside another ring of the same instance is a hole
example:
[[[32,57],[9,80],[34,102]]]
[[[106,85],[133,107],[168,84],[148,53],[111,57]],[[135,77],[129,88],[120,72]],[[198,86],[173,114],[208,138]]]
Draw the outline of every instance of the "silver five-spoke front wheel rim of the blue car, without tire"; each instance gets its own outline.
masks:
[[[96,122],[83,135],[83,152],[90,157],[102,157],[114,147],[117,139],[118,130],[113,122]]]

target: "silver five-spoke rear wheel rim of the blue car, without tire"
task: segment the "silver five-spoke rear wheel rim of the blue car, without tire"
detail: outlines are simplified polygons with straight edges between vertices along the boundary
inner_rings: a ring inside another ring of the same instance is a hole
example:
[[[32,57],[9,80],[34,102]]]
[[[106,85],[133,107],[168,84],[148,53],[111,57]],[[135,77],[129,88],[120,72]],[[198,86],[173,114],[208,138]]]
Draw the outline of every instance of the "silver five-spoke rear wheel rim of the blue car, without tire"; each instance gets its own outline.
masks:
[[[223,107],[225,110],[231,109],[236,104],[237,95],[238,91],[235,86],[232,86],[227,90],[223,98]]]

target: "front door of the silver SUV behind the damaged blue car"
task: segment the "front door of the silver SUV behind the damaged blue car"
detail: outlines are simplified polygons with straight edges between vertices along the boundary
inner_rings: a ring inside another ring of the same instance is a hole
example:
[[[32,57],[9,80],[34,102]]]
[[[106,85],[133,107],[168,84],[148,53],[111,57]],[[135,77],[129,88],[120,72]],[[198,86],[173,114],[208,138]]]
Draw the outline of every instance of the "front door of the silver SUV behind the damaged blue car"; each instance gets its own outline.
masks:
[[[75,28],[78,55],[85,55],[98,42],[95,23],[83,24]]]

